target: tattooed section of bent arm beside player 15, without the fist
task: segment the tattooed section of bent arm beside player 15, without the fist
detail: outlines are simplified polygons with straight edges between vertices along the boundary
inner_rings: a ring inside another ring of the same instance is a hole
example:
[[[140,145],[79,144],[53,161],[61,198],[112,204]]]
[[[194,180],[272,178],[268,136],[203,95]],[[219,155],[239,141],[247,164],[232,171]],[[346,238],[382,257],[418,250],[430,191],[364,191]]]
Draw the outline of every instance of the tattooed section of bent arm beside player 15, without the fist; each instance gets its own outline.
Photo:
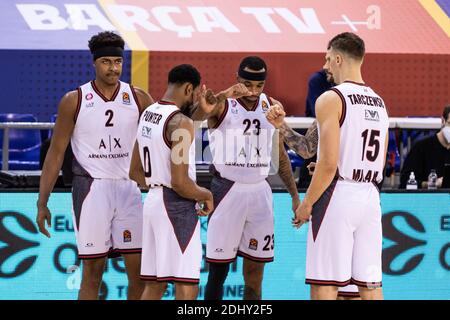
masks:
[[[319,137],[317,134],[317,121],[308,128],[305,135],[301,135],[290,128],[286,122],[281,125],[280,134],[284,142],[304,159],[312,158],[317,153],[317,143]]]

